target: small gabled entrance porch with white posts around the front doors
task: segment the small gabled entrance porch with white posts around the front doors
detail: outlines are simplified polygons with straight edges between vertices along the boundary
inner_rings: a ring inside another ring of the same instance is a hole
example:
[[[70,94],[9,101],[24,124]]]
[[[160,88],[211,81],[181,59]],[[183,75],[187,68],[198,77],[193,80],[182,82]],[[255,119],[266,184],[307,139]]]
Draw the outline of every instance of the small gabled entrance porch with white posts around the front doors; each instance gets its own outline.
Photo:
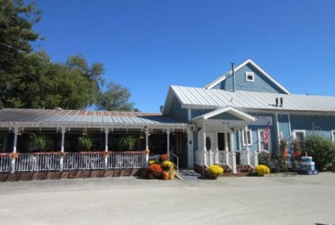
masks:
[[[195,164],[209,167],[218,164],[226,171],[237,173],[237,166],[246,165],[254,168],[258,165],[258,153],[248,149],[238,150],[237,133],[245,134],[248,143],[248,123],[255,121],[250,116],[233,107],[216,109],[202,116],[193,118],[198,135],[198,149],[195,150]]]

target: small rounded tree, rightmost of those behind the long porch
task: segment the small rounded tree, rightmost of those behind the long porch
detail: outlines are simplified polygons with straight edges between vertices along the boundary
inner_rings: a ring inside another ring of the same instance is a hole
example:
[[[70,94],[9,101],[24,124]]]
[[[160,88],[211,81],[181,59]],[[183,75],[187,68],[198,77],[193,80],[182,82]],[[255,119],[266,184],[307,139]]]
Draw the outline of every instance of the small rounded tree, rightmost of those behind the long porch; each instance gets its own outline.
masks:
[[[96,107],[108,111],[132,111],[133,103],[129,102],[131,93],[127,88],[113,82],[108,84],[107,91],[100,93]]]

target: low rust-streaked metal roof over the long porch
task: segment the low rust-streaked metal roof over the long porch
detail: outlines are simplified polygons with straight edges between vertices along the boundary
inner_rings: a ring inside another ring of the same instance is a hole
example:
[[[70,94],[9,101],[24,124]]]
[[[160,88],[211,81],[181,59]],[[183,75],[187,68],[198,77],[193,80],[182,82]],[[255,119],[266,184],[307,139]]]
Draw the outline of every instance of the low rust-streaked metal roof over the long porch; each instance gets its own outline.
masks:
[[[1,109],[0,123],[8,122],[185,125],[173,118],[155,113],[62,109]]]

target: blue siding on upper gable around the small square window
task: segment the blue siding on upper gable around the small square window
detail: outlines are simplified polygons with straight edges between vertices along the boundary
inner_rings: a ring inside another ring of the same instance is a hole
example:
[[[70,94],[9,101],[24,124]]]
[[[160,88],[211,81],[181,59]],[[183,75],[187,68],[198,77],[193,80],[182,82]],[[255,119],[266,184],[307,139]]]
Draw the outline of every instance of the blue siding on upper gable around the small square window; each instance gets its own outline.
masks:
[[[246,72],[253,72],[255,74],[254,82],[246,81]],[[235,87],[237,91],[285,93],[250,63],[244,65],[244,67],[235,72]],[[232,76],[227,77],[223,82],[217,84],[214,88],[232,91]]]

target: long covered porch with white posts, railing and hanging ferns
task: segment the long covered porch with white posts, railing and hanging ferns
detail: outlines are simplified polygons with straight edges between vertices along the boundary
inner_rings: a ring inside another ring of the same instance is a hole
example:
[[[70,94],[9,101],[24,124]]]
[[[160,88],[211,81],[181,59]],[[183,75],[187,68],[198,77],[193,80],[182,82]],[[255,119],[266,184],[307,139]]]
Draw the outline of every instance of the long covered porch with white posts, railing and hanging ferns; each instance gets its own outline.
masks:
[[[15,118],[17,110],[13,112]],[[43,113],[50,116],[87,114],[86,111],[38,111],[40,116],[45,116]],[[104,116],[118,116],[119,123],[112,120],[83,123],[64,121],[64,118],[62,121],[34,121],[38,118],[33,120],[27,114],[22,118],[22,112],[17,115],[17,121],[10,122],[3,121],[0,113],[0,172],[140,169],[147,166],[149,158],[163,153],[188,166],[188,139],[192,135],[187,134],[191,133],[191,126],[156,114],[109,113],[104,112]],[[37,135],[47,139],[45,148],[34,146]],[[80,146],[79,137],[89,137],[91,148]],[[125,137],[131,139],[131,146],[121,141]]]

